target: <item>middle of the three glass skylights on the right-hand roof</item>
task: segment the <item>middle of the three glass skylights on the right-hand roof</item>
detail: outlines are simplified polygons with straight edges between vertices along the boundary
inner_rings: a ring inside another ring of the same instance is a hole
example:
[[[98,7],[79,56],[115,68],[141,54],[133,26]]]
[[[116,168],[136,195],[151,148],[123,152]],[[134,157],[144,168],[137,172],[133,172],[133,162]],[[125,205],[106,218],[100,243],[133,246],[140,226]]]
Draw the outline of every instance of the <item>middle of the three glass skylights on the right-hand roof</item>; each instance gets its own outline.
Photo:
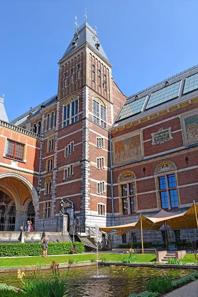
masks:
[[[181,87],[181,82],[182,81],[179,81],[177,83],[174,83],[168,87],[165,87],[159,91],[152,93],[150,95],[150,99],[148,100],[146,109],[178,97],[180,87]]]

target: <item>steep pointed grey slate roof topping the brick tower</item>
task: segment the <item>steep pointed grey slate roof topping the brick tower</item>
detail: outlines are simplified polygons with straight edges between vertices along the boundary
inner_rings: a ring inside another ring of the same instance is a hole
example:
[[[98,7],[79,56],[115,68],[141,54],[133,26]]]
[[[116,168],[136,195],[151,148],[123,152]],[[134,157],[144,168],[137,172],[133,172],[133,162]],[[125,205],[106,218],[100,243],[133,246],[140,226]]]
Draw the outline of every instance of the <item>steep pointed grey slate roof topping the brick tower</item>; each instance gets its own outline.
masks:
[[[94,30],[87,22],[85,22],[82,26],[76,29],[74,38],[70,42],[68,48],[66,49],[65,53],[63,54],[60,60],[71,54],[76,49],[79,49],[82,45],[86,43],[89,44],[93,49],[95,49],[98,52],[99,55],[101,55],[105,60],[108,61],[108,58],[99,43],[96,30]],[[99,46],[96,46],[96,44],[98,44]]]

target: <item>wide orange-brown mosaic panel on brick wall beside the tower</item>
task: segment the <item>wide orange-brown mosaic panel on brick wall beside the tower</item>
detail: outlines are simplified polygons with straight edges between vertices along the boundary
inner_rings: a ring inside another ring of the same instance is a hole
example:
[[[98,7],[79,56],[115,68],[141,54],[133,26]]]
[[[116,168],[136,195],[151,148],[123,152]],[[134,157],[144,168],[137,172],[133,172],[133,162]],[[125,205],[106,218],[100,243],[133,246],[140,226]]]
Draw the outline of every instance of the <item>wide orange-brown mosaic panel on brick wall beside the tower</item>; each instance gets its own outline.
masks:
[[[113,140],[113,165],[140,159],[143,156],[141,131]]]

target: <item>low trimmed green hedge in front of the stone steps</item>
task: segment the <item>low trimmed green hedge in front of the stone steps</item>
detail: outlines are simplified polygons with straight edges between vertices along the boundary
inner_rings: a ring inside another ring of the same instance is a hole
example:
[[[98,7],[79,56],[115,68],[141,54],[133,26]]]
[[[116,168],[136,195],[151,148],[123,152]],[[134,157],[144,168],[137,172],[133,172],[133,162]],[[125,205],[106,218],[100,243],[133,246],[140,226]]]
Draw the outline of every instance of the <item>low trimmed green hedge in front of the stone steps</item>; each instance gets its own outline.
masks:
[[[69,254],[72,243],[49,243],[48,255]],[[82,253],[85,250],[83,243],[75,243],[74,253]],[[42,244],[0,244],[0,257],[12,256],[39,256],[42,254]]]

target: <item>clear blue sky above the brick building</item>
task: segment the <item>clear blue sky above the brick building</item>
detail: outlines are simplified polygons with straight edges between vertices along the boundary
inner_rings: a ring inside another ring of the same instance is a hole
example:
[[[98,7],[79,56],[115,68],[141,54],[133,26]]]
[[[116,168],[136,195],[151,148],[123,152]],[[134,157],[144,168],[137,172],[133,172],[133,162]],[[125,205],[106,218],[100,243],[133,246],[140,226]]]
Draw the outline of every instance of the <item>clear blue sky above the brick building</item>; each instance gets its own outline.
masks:
[[[0,0],[0,97],[9,120],[57,93],[57,62],[85,8],[127,96],[198,64],[197,0]]]

